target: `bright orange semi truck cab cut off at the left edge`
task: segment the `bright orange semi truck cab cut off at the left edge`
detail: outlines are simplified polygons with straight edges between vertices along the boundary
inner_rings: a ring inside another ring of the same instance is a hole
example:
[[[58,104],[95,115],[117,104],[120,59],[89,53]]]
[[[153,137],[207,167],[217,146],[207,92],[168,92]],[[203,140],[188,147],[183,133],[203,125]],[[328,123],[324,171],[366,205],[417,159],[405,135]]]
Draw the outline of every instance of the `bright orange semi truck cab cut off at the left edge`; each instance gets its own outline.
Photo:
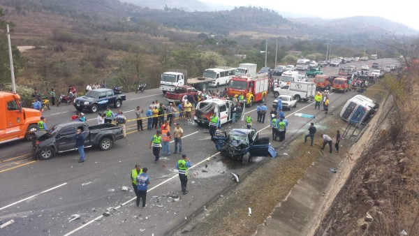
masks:
[[[22,108],[18,94],[0,91],[0,144],[22,138],[29,141],[40,119],[40,111]]]

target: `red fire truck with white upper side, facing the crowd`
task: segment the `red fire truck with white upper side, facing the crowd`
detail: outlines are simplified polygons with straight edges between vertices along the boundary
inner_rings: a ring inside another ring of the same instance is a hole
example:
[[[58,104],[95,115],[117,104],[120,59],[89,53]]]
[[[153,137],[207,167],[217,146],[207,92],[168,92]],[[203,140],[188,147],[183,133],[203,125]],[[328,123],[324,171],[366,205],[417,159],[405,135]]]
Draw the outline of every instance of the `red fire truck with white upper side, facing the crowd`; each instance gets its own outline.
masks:
[[[269,88],[269,78],[266,75],[249,77],[240,75],[233,77],[228,82],[228,97],[233,98],[235,95],[246,98],[246,105],[251,106],[253,102],[265,102],[267,90]]]

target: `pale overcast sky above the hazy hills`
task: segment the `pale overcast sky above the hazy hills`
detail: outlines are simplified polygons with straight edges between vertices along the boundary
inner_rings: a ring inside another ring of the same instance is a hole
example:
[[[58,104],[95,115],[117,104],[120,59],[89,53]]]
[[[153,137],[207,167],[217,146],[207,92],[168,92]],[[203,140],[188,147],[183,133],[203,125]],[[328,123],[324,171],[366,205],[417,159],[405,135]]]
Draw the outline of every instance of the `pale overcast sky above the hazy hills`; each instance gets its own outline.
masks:
[[[261,6],[286,13],[296,13],[297,17],[343,18],[350,16],[380,16],[393,22],[399,22],[413,29],[419,30],[419,13],[416,7],[418,2],[398,1],[325,1],[325,0],[200,0],[211,6],[211,3],[218,3],[228,6]]]

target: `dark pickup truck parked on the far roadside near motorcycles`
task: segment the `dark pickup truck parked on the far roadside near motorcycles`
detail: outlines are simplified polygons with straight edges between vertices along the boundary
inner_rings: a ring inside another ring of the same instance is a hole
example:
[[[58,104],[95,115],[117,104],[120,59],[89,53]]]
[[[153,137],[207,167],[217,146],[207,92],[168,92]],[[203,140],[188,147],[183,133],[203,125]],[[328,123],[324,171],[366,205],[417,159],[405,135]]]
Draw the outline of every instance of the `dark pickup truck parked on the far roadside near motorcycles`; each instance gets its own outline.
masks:
[[[126,100],[124,93],[113,91],[112,89],[94,89],[88,91],[84,96],[75,98],[74,107],[77,110],[90,110],[97,112],[99,108],[106,108],[108,105],[113,105],[119,108],[122,101]]]

